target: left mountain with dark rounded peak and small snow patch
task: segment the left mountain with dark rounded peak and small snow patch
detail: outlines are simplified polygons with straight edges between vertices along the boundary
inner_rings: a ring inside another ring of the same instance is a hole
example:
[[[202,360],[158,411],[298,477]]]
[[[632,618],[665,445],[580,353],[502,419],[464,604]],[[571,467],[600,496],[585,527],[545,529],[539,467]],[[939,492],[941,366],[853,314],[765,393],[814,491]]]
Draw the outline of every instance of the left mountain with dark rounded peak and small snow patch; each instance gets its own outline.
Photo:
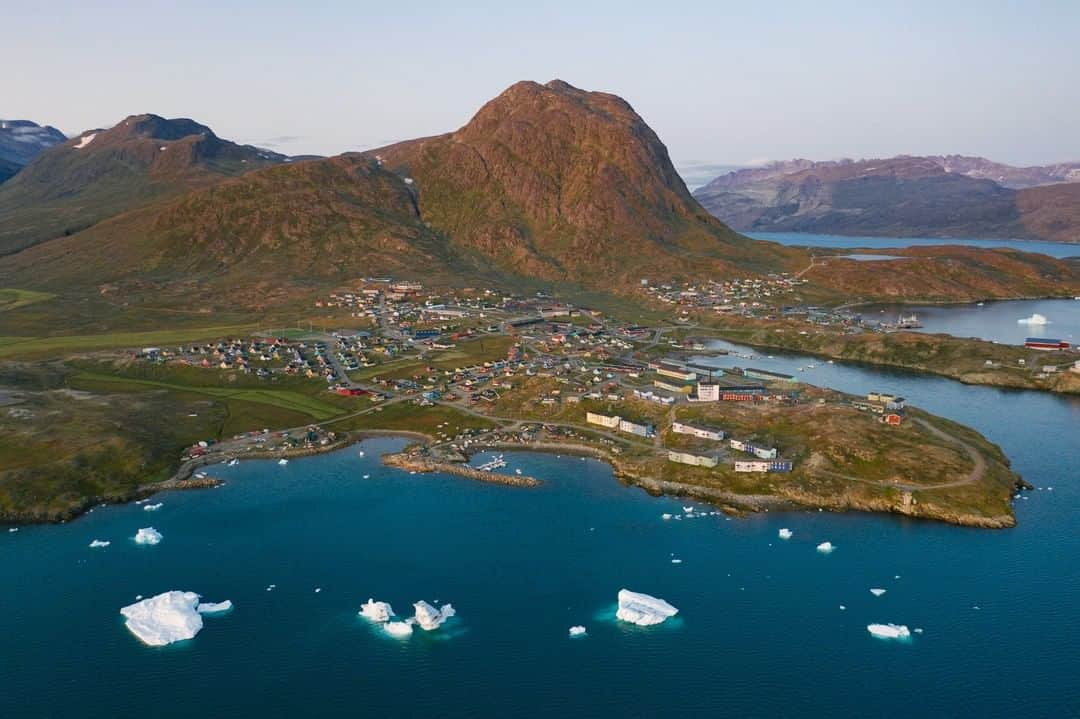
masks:
[[[0,255],[285,160],[192,120],[132,116],[45,149],[0,185]]]

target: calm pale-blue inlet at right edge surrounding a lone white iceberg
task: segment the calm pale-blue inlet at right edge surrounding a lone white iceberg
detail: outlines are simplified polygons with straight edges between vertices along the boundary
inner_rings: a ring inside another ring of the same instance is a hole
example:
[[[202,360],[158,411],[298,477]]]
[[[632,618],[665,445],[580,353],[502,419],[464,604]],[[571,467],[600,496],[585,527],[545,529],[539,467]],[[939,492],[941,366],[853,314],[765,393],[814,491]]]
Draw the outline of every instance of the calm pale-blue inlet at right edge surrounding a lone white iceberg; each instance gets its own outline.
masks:
[[[1027,337],[1051,337],[1069,344],[1080,342],[1080,300],[1008,300],[983,304],[885,304],[861,308],[865,320],[896,322],[899,315],[915,313],[922,327],[916,331],[945,333],[956,337],[1023,344]],[[1020,322],[1042,315],[1047,324]],[[1066,355],[1074,360],[1080,355]]]

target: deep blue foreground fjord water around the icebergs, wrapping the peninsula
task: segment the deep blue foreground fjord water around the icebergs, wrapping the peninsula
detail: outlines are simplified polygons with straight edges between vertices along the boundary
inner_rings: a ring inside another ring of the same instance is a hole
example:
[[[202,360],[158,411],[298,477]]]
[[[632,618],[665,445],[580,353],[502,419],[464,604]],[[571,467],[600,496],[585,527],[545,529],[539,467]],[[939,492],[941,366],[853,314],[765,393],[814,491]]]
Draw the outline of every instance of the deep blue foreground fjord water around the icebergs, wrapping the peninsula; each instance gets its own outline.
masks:
[[[4,716],[1077,716],[1080,401],[753,363],[903,394],[984,432],[1044,489],[1002,531],[816,512],[664,521],[690,503],[592,460],[508,453],[508,471],[546,480],[534,490],[381,466],[399,439],[244,461],[214,469],[220,489],[160,496],[156,513],[0,531]],[[162,543],[133,544],[150,525]],[[814,550],[825,540],[832,555]],[[679,615],[617,625],[620,587]],[[141,646],[120,607],[174,588],[235,610],[189,642]],[[396,640],[356,616],[368,597],[402,614],[449,601],[459,616]],[[924,633],[875,639],[872,622]],[[575,624],[588,638],[567,637]]]

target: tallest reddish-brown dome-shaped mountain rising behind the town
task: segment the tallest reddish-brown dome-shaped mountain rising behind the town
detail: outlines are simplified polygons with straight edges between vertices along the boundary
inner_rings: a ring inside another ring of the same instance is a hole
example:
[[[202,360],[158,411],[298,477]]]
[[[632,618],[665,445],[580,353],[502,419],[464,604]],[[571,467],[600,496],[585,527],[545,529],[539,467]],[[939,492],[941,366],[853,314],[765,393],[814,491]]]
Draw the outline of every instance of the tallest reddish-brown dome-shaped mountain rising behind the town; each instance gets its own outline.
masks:
[[[411,180],[424,219],[522,274],[584,284],[782,269],[705,213],[622,98],[518,82],[457,132],[369,153]]]

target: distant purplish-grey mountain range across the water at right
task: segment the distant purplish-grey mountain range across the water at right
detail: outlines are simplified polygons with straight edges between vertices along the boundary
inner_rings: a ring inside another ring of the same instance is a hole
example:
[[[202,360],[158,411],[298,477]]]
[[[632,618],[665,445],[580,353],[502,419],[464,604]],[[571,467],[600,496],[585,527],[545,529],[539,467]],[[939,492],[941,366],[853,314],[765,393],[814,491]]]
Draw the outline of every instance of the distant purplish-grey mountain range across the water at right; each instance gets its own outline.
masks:
[[[745,231],[1080,242],[1080,162],[791,160],[721,175],[694,198]]]

